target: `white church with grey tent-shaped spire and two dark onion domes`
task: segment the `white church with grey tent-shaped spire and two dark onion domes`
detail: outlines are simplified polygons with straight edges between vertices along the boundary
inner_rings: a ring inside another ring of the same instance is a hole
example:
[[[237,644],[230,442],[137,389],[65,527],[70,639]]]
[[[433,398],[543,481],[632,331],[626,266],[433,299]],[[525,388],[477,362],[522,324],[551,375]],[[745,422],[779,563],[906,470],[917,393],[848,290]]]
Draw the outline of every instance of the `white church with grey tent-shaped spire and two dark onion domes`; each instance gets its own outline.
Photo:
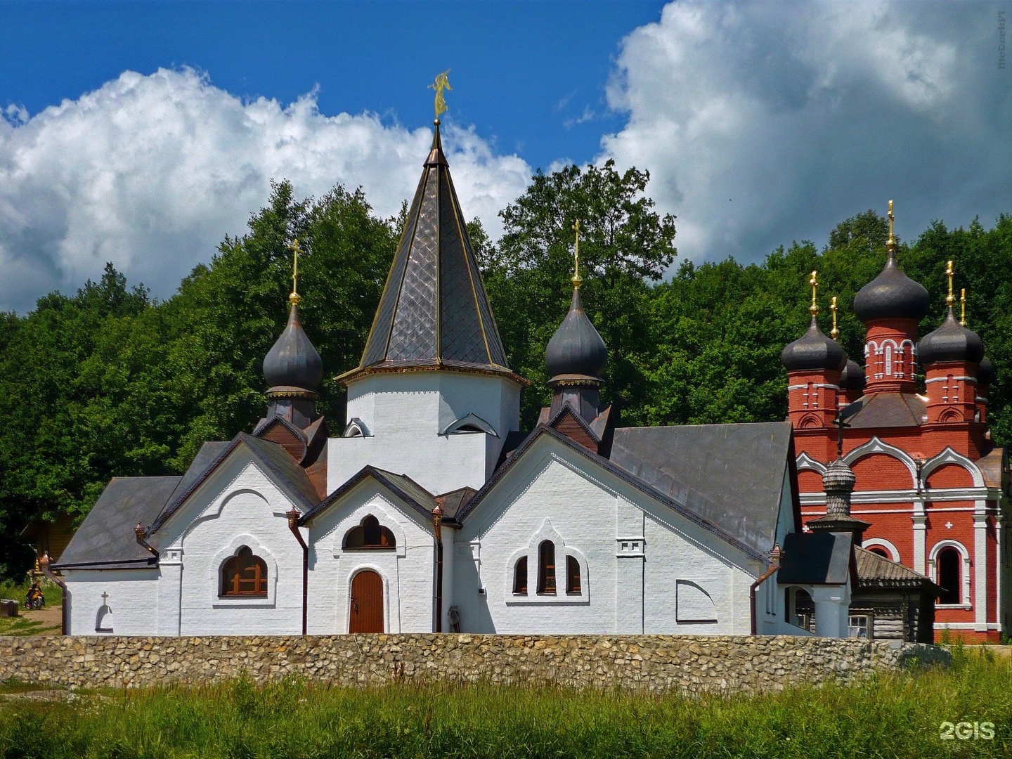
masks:
[[[854,531],[803,532],[789,422],[616,426],[578,276],[520,430],[463,219],[437,120],[346,423],[293,292],[265,418],[112,480],[53,563],[65,632],[847,635]]]

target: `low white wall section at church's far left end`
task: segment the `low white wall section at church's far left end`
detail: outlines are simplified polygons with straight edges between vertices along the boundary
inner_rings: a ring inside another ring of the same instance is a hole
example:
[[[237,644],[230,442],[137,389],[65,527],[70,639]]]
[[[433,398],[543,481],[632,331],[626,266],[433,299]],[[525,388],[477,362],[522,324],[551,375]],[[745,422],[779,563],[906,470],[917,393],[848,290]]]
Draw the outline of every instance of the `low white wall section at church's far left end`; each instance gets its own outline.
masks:
[[[158,570],[64,570],[72,636],[158,632]],[[103,597],[105,594],[105,597]],[[101,622],[102,630],[97,627]],[[111,628],[111,629],[110,629]]]

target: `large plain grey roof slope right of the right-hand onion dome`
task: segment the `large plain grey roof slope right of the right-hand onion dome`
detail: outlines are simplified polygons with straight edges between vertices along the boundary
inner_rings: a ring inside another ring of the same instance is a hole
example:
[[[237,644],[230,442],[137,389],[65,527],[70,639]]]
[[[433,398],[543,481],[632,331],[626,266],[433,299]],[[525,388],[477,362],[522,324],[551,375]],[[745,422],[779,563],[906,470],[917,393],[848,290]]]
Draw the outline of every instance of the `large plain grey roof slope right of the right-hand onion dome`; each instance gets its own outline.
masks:
[[[776,539],[791,441],[789,422],[623,427],[611,461],[766,554]]]

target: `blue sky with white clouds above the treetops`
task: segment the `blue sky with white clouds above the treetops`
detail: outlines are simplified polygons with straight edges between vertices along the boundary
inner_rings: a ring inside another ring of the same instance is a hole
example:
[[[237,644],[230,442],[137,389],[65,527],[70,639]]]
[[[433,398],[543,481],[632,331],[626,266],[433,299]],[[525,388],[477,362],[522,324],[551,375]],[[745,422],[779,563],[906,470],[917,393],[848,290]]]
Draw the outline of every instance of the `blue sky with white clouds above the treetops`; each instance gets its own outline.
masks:
[[[681,257],[761,260],[893,197],[1012,212],[1012,2],[0,3],[0,309],[113,261],[159,297],[272,178],[410,196],[444,146],[493,237],[531,173],[651,172]]]

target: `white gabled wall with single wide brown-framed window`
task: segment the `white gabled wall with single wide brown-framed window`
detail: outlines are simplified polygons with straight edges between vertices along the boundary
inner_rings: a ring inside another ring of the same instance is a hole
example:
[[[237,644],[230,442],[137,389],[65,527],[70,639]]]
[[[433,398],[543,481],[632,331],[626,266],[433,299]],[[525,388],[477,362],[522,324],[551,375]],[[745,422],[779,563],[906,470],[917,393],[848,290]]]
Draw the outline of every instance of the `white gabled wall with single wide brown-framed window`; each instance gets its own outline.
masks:
[[[180,635],[302,632],[303,550],[285,517],[293,505],[239,449],[162,526],[156,533],[162,555],[177,554],[182,563],[181,582],[169,572],[163,579],[180,589]],[[222,565],[243,545],[267,566],[266,598],[219,597]],[[169,619],[160,622],[171,626]]]

